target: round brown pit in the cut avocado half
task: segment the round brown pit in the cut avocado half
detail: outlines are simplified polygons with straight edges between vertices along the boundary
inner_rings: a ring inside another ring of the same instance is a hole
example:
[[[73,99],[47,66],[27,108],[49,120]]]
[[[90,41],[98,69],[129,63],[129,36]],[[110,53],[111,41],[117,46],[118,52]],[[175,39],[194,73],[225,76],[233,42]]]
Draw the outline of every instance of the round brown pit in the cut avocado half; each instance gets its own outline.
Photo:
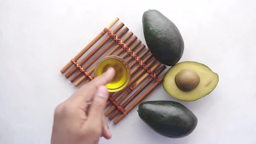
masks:
[[[199,85],[200,77],[193,70],[185,69],[175,76],[175,83],[181,91],[189,92]]]

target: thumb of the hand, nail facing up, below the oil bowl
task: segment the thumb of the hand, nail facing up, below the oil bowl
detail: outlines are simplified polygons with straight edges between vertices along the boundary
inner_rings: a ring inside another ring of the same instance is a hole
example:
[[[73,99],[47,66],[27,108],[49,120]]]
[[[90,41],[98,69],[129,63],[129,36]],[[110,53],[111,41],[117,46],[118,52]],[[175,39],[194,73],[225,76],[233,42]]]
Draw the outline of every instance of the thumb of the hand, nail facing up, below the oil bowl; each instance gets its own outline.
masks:
[[[94,123],[102,123],[102,115],[108,101],[108,88],[101,85],[92,99],[92,105],[88,114],[88,118],[93,120]]]

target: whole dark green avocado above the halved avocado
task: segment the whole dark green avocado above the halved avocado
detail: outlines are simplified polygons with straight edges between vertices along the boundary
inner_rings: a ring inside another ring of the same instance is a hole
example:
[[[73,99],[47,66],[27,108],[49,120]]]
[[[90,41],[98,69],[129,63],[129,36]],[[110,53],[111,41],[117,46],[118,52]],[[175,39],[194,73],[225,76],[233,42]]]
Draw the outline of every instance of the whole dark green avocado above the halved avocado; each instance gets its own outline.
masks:
[[[152,55],[164,65],[175,65],[184,52],[184,41],[177,26],[158,10],[145,11],[142,23]]]

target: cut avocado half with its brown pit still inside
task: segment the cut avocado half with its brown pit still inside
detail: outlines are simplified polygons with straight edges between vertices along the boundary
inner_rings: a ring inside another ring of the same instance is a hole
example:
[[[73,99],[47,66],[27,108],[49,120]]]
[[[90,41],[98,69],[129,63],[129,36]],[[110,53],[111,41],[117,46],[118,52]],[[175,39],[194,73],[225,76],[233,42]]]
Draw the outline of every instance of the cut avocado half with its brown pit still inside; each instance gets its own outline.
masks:
[[[180,62],[164,76],[164,90],[181,101],[196,101],[213,91],[219,76],[199,62]]]

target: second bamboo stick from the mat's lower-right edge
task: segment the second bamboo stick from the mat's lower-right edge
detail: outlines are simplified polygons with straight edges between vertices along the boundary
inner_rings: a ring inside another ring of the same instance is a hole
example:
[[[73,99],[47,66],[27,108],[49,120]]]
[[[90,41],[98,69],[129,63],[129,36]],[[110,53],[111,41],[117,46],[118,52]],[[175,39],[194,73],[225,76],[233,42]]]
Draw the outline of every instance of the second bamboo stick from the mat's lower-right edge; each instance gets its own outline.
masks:
[[[166,66],[162,66],[157,72],[156,75],[158,76],[161,72],[164,71],[164,69],[166,69]],[[141,86],[141,88],[139,88],[133,95],[131,95],[130,98],[128,98],[122,105],[122,108],[125,108],[139,93],[141,93],[151,82],[153,81],[153,79],[149,79],[147,82],[145,82],[144,86]],[[116,115],[118,115],[119,111],[116,110],[112,115],[109,116],[109,120],[112,120],[113,118],[115,118]]]

